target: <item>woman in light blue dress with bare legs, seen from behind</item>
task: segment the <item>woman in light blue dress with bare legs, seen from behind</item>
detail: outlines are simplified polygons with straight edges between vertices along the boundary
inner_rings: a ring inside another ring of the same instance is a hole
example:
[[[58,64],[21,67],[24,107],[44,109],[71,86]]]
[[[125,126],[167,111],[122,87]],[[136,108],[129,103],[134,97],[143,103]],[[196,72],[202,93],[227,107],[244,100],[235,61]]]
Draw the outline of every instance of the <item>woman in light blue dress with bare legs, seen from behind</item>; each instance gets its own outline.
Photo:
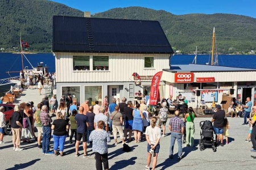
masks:
[[[135,143],[138,143],[141,139],[141,132],[143,131],[143,113],[139,111],[139,107],[141,105],[139,103],[136,104],[136,108],[133,111],[133,130],[134,130],[134,138]]]

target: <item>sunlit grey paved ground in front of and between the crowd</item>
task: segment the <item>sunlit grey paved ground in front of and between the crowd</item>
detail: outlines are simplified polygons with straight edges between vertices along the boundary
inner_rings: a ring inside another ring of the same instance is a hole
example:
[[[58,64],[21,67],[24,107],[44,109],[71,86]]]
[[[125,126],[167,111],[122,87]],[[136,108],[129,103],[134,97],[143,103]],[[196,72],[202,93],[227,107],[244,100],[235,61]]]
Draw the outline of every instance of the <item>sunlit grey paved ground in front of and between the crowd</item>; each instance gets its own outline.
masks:
[[[242,124],[242,118],[229,118],[231,125],[229,145],[218,147],[216,152],[212,148],[200,151],[198,139],[200,138],[199,122],[210,120],[210,118],[196,118],[196,147],[185,147],[183,145],[182,160],[177,159],[177,144],[174,148],[174,159],[168,158],[170,148],[170,131],[167,136],[160,140],[160,152],[156,169],[253,169],[256,165],[256,153],[250,152],[251,142],[245,142],[249,126]],[[169,121],[169,120],[168,120]],[[168,129],[168,128],[167,128]],[[13,151],[11,136],[5,136],[6,144],[0,145],[1,169],[95,169],[94,156],[89,158],[75,157],[74,145],[66,142],[64,157],[54,155],[43,155],[42,150],[38,149],[37,143],[22,143],[23,151]],[[68,139],[66,139],[68,141]],[[51,142],[52,144],[52,142]],[[110,169],[144,169],[146,164],[146,142],[130,142],[131,152],[123,152],[122,145],[114,146],[112,141],[109,143],[109,165]],[[82,147],[80,147],[80,153]],[[89,146],[88,154],[92,153]],[[57,165],[57,166],[56,166]]]

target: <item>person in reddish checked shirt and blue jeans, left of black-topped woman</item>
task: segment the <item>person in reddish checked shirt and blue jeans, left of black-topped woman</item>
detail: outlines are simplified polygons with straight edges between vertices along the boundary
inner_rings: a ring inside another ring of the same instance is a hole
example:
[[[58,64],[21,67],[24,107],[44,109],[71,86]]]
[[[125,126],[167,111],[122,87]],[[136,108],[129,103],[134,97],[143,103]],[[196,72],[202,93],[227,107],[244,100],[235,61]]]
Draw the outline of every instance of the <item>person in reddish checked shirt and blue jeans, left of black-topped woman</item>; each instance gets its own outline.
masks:
[[[48,108],[46,105],[42,106],[42,112],[40,113],[40,120],[43,125],[43,142],[42,142],[42,149],[43,154],[51,155],[53,154],[52,151],[49,151],[49,143],[51,141],[51,122],[52,119],[48,114]]]

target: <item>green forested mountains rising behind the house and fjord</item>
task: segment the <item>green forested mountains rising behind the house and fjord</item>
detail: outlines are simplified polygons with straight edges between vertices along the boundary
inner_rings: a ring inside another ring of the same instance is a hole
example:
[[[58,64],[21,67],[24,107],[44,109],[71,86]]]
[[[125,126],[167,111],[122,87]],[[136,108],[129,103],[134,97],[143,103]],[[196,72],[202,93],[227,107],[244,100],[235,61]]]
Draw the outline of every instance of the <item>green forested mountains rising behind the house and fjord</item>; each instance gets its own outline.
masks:
[[[52,16],[84,16],[84,12],[47,0],[0,0],[0,48],[19,48],[19,37],[30,50],[50,52]],[[174,15],[143,7],[114,8],[92,15],[97,18],[158,20],[174,50],[199,53],[210,50],[216,28],[219,53],[247,53],[256,50],[256,19],[232,14]]]

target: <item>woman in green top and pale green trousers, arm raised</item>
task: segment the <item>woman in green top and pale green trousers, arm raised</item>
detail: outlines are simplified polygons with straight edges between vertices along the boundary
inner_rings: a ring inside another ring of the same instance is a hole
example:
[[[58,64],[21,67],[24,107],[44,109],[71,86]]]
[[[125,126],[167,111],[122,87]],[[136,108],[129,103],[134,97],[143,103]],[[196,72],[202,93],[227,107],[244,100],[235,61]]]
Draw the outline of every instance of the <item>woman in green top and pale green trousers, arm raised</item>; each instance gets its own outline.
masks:
[[[194,146],[195,124],[194,120],[197,117],[192,107],[188,108],[188,113],[185,114],[184,122],[186,123],[186,145],[187,147]]]

